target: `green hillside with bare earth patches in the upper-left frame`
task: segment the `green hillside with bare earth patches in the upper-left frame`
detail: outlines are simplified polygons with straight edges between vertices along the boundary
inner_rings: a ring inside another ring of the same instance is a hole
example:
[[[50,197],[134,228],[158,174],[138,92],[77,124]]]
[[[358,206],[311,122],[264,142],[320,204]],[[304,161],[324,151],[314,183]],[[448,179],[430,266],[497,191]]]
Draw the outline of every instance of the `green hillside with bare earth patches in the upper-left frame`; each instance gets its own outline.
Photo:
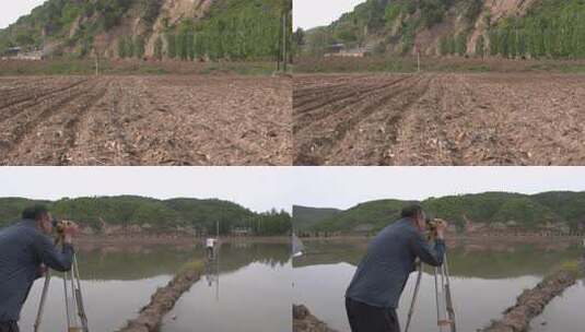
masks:
[[[291,8],[290,0],[47,0],[0,31],[0,54],[274,59]]]

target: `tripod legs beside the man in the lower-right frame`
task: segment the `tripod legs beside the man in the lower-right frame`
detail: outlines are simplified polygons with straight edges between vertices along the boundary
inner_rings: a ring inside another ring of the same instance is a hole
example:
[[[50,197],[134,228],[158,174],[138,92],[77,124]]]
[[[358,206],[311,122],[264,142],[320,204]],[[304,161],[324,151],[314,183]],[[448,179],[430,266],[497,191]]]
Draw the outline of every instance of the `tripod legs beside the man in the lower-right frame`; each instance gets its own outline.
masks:
[[[417,284],[414,286],[414,294],[412,295],[412,301],[410,303],[410,310],[408,311],[408,319],[405,332],[410,329],[410,322],[414,315],[414,307],[417,305],[417,298],[419,296],[419,289],[422,280],[422,262],[419,264],[417,274]],[[443,265],[434,268],[435,280],[435,301],[436,301],[436,320],[438,331],[447,331],[451,328],[451,332],[457,332],[455,321],[455,309],[453,307],[453,296],[451,294],[451,281],[449,270],[447,263],[447,254],[443,258]]]

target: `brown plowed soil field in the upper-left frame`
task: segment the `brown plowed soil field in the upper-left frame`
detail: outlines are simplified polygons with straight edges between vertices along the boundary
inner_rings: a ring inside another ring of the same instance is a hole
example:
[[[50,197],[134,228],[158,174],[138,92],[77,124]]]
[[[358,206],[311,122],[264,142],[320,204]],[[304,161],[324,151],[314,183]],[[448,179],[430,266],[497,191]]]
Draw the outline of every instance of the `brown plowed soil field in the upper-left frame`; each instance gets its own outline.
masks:
[[[0,165],[290,165],[291,83],[0,79]]]

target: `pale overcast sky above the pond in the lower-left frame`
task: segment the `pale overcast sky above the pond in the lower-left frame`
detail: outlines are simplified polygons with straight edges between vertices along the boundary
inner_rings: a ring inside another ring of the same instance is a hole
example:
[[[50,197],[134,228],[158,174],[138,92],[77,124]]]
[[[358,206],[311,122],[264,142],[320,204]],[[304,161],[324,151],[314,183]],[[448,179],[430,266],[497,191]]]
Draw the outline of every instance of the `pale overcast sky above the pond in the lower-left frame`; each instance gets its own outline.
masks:
[[[289,191],[281,188],[292,180],[285,173],[273,167],[0,167],[0,197],[218,198],[257,212],[291,211]]]

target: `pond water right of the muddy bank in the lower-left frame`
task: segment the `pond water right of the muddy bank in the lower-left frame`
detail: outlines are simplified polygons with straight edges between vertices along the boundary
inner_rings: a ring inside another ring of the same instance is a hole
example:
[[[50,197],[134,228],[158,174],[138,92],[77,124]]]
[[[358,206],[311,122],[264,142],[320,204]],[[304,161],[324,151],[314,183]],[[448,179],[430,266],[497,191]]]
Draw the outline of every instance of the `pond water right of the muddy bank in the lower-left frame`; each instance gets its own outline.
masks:
[[[219,254],[206,262],[203,280],[179,299],[161,330],[289,330],[292,324],[290,245],[259,249],[249,244],[222,245]],[[237,264],[237,259],[243,257],[253,262]]]

